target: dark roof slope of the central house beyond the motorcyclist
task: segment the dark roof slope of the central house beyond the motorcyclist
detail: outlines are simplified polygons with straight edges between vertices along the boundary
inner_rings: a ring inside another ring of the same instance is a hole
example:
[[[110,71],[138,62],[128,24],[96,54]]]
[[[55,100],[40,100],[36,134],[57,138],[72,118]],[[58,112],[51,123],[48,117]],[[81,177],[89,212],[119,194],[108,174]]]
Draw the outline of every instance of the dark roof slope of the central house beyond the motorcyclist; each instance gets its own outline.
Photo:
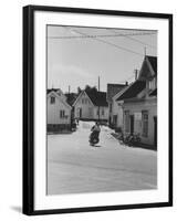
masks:
[[[106,92],[85,92],[95,106],[107,107]]]

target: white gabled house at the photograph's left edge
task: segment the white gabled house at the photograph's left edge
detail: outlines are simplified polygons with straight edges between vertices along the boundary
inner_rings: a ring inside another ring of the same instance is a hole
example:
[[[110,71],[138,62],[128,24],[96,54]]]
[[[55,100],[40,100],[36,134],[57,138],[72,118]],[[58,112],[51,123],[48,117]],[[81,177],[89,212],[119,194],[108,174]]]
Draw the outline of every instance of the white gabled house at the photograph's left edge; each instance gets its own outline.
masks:
[[[61,90],[48,90],[48,131],[71,129],[72,107]]]

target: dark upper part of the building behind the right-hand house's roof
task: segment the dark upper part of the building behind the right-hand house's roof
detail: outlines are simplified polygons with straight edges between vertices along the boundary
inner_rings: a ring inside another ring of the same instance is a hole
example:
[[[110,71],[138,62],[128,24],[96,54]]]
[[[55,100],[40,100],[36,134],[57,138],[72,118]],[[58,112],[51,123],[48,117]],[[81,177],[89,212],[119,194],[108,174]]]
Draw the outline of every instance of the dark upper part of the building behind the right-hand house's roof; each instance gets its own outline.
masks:
[[[107,102],[112,102],[114,95],[121,92],[127,84],[107,84]]]

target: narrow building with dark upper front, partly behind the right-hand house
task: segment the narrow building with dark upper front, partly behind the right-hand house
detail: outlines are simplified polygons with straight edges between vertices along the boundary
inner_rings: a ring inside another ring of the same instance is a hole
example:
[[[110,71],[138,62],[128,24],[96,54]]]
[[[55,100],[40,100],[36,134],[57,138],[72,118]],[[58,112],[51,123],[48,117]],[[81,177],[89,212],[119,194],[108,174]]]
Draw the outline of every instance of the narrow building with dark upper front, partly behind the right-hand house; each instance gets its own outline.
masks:
[[[119,109],[115,102],[115,95],[118,94],[126,84],[107,84],[107,103],[108,103],[108,125],[112,128],[118,127],[118,122],[123,118],[122,108]]]

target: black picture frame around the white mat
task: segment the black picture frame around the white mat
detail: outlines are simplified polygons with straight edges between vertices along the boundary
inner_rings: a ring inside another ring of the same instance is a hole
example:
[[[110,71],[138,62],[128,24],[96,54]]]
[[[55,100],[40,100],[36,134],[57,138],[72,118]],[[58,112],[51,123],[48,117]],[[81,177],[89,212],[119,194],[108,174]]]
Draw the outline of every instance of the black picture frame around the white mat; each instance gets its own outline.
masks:
[[[169,168],[168,168],[168,202],[153,202],[140,204],[105,206],[87,208],[66,208],[54,210],[34,210],[34,12],[71,12],[85,14],[156,18],[168,20],[169,30]],[[27,6],[23,7],[23,200],[22,211],[28,215],[93,212],[105,210],[124,210],[140,208],[157,208],[173,206],[173,14],[114,11],[100,9],[80,9],[49,6]]]

